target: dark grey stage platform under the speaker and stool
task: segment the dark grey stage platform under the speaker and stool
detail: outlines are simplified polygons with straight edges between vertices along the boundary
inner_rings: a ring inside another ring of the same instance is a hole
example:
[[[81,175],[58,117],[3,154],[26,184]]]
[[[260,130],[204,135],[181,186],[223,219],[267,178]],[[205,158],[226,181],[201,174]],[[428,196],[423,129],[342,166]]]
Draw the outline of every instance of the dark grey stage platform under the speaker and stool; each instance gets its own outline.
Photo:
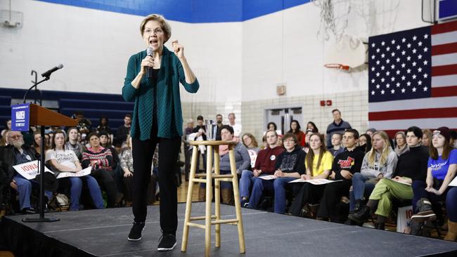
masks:
[[[46,213],[55,223],[23,223],[7,216],[1,233],[16,256],[204,256],[205,232],[191,228],[188,251],[181,252],[186,204],[178,205],[178,244],[160,253],[159,206],[148,206],[148,219],[140,242],[128,242],[131,208]],[[213,206],[214,209],[214,206]],[[246,253],[239,253],[234,225],[221,225],[221,247],[212,256],[457,256],[457,243],[404,235],[319,220],[243,209]],[[193,216],[205,213],[205,203],[193,204]],[[221,206],[224,218],[235,216],[233,206]]]

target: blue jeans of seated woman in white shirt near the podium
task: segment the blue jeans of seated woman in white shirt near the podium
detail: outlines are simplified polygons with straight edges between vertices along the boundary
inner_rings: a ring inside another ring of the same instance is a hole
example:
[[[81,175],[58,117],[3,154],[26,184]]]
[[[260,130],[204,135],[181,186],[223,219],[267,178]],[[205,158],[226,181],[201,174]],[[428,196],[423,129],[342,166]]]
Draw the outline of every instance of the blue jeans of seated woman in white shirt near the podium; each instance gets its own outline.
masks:
[[[79,210],[79,197],[81,197],[82,180],[86,180],[87,187],[91,193],[96,209],[103,209],[103,197],[97,180],[92,176],[70,177],[70,211]]]

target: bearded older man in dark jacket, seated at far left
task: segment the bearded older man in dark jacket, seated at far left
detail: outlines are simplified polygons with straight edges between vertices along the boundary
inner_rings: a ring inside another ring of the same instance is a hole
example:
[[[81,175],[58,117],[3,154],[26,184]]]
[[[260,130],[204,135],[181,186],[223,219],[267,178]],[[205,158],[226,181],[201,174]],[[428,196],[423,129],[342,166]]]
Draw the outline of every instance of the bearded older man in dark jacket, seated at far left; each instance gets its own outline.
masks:
[[[2,185],[9,185],[19,193],[19,208],[22,213],[34,213],[30,204],[32,195],[32,185],[39,185],[36,180],[27,180],[21,176],[15,169],[14,165],[25,164],[36,160],[36,153],[33,147],[24,144],[24,139],[20,131],[8,131],[5,133],[9,145],[2,150],[0,158],[0,174],[4,174],[1,181]],[[46,197],[51,199],[52,192],[45,191]],[[45,199],[47,202],[47,200]]]

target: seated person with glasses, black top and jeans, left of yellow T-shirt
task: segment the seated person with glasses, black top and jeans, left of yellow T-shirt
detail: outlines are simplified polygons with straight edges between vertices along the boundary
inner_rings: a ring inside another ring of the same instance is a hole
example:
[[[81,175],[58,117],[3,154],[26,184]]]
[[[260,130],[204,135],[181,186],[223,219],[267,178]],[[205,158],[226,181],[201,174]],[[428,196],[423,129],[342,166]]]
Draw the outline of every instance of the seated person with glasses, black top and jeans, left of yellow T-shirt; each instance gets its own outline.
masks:
[[[300,178],[304,174],[304,157],[306,154],[297,145],[297,136],[287,133],[283,137],[285,151],[276,159],[276,176],[273,180],[256,179],[252,186],[251,198],[248,206],[259,208],[259,202],[264,191],[274,192],[274,212],[285,213],[285,189],[292,188],[290,181]]]

